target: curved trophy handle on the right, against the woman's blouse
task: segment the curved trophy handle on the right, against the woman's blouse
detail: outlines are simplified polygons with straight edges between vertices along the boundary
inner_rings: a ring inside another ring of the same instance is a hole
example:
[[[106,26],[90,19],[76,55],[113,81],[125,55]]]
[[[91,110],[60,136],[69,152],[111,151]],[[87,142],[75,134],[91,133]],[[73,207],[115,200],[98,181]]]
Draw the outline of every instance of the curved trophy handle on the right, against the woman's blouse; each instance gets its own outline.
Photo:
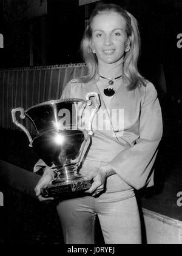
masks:
[[[96,98],[96,105],[95,107],[92,109],[92,114],[90,116],[90,120],[89,120],[89,130],[88,130],[88,133],[90,135],[93,134],[93,131],[92,131],[92,120],[93,120],[93,117],[95,116],[96,112],[98,111],[99,109],[99,106],[101,105],[101,102],[100,102],[100,99],[99,99],[99,95],[98,93],[96,92],[88,92],[86,94],[86,101],[87,101],[87,105],[90,106],[92,105],[92,101],[90,100],[90,97],[94,96]]]

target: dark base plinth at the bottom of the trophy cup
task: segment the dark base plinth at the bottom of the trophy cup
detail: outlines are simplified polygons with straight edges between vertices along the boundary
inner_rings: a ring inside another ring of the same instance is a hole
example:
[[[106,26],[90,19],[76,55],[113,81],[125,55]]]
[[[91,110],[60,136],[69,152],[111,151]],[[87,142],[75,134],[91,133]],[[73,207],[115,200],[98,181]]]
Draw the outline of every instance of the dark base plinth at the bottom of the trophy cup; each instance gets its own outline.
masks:
[[[92,181],[85,181],[83,177],[67,181],[53,181],[51,185],[41,189],[41,195],[45,198],[61,198],[61,196],[71,196],[76,192],[84,192],[84,190],[90,189],[91,185]]]

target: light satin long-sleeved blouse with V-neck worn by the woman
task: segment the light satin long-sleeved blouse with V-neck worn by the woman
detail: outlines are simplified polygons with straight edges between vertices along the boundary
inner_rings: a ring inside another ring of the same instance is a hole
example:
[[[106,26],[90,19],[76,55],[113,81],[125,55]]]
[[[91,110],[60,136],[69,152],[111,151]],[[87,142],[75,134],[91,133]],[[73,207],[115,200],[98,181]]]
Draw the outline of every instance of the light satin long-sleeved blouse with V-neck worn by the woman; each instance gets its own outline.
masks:
[[[89,83],[71,80],[64,88],[61,99],[85,100],[87,92],[97,92],[101,106],[93,118],[92,142],[80,173],[87,175],[94,167],[109,163],[116,175],[107,178],[108,191],[153,185],[153,164],[163,133],[155,87],[147,81],[146,86],[128,91],[124,84],[106,108],[95,80]]]

